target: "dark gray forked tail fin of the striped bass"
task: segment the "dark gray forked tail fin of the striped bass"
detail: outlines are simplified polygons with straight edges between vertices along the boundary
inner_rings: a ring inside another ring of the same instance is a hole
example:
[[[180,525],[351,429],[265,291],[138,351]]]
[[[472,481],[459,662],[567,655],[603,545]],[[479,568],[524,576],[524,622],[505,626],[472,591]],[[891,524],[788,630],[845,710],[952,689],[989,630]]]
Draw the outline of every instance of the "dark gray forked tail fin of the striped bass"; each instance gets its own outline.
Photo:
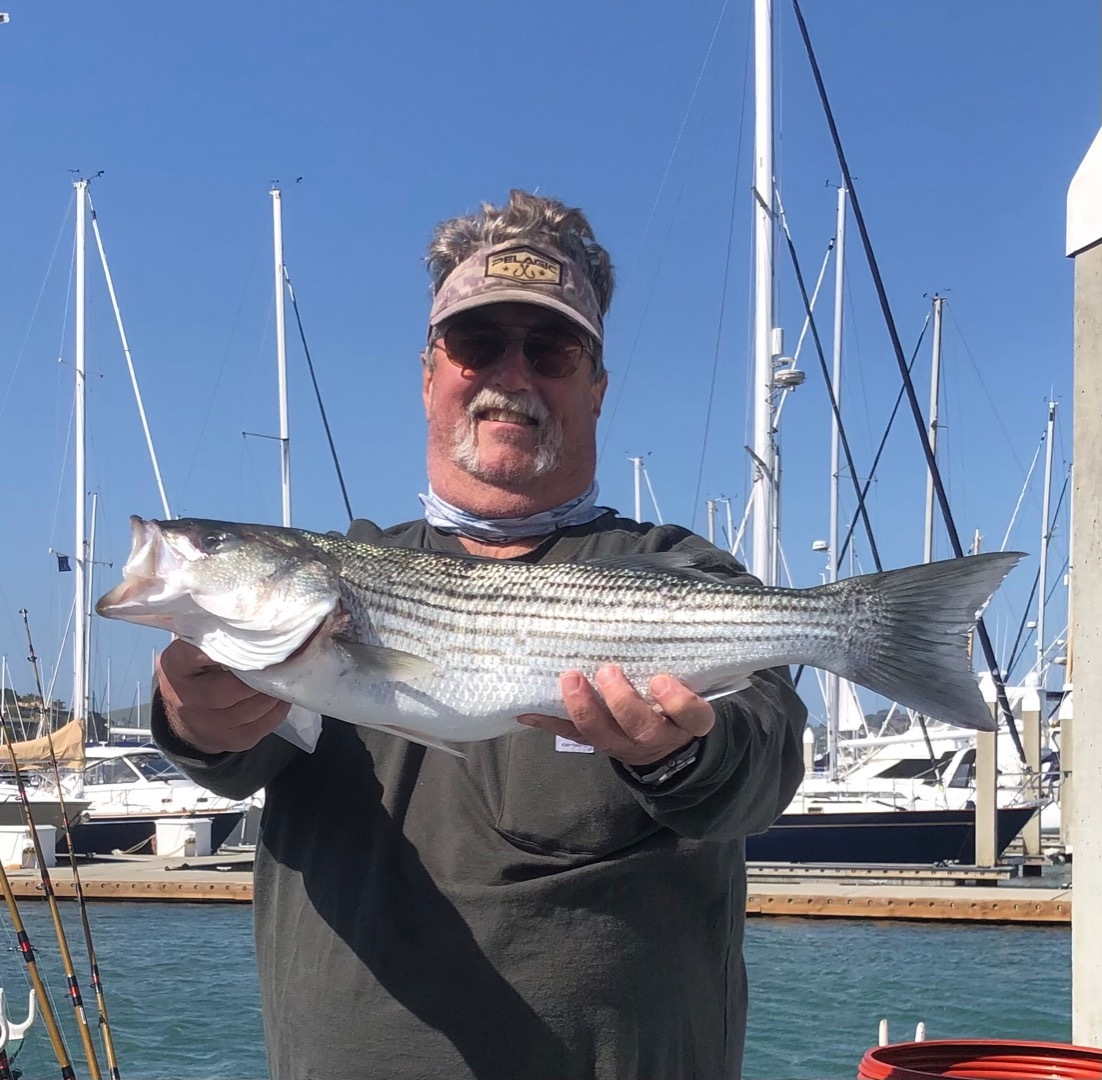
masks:
[[[845,593],[852,612],[845,636],[853,667],[838,673],[934,720],[994,731],[968,636],[1022,558],[987,552],[821,586]]]

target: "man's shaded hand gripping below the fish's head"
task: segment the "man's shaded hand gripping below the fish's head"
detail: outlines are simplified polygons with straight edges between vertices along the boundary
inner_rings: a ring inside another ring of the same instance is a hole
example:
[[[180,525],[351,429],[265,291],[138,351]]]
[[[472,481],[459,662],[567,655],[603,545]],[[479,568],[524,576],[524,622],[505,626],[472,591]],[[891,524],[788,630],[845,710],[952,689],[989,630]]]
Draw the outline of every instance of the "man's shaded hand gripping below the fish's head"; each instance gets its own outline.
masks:
[[[247,687],[180,639],[158,657],[156,678],[173,734],[204,754],[256,746],[283,723],[291,708]]]

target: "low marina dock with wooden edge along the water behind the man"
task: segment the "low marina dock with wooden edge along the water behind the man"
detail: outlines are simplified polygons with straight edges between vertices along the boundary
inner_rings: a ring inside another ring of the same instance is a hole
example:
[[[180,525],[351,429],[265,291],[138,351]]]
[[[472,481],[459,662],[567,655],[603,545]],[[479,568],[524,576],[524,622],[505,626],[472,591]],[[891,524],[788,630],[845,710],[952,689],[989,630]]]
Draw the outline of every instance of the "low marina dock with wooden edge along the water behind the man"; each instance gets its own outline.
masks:
[[[746,910],[755,916],[1070,925],[1070,881],[1020,884],[1017,866],[752,865]],[[94,900],[192,904],[252,901],[252,852],[191,858],[111,855],[80,860]],[[37,870],[9,870],[19,899],[43,899]],[[55,895],[73,899],[67,861],[50,871]]]

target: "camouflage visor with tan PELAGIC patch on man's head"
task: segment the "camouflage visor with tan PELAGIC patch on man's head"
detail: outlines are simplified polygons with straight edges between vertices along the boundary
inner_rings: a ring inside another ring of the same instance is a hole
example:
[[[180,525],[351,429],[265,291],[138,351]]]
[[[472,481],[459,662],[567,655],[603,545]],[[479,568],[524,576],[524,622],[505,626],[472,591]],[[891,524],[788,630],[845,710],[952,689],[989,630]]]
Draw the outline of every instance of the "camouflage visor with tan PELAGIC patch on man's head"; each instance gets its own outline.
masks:
[[[550,307],[604,341],[601,305],[585,270],[558,248],[522,240],[479,248],[464,259],[440,287],[429,325],[509,302]]]

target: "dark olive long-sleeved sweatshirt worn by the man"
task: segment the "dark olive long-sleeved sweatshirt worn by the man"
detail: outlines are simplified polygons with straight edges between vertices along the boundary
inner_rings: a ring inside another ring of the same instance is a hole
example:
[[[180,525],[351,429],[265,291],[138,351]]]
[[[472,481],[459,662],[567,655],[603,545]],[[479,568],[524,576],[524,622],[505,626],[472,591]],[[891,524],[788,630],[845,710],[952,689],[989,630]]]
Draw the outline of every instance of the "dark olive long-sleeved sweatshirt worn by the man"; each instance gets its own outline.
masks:
[[[461,551],[414,521],[349,537]],[[691,549],[605,514],[525,560]],[[657,672],[656,672],[657,673]],[[541,731],[466,758],[326,719],[312,754],[270,735],[203,755],[193,779],[263,788],[255,919],[272,1080],[734,1080],[746,1024],[743,838],[803,773],[787,670],[716,703],[698,760],[653,789]]]

